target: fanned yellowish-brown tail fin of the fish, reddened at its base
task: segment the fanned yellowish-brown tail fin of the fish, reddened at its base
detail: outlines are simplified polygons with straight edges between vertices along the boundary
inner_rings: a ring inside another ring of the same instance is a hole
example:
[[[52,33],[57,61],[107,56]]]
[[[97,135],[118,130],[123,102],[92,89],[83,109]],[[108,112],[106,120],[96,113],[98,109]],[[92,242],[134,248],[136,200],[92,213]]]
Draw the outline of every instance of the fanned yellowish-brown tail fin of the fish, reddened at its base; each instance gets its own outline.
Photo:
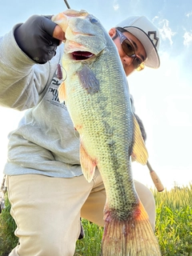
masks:
[[[161,256],[158,240],[141,202],[126,220],[115,218],[110,209],[105,209],[105,213],[102,256]]]

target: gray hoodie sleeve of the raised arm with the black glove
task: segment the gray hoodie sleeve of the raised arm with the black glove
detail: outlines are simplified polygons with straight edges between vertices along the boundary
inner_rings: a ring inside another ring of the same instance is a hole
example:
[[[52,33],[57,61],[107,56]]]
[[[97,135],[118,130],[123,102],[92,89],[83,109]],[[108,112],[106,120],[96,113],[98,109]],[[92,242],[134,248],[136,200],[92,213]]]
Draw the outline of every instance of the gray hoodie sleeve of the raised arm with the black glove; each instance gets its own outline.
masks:
[[[16,28],[0,38],[0,106],[26,110],[38,103],[59,59],[43,65],[34,62],[18,47]]]

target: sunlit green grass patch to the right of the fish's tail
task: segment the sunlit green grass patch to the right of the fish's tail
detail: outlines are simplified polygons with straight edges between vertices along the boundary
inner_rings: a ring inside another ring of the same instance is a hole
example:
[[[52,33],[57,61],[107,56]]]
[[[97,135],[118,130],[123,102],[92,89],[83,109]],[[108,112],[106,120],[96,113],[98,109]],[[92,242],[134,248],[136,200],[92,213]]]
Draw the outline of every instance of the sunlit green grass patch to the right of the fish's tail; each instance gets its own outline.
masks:
[[[162,255],[192,255],[192,185],[154,193],[157,205],[155,234]]]

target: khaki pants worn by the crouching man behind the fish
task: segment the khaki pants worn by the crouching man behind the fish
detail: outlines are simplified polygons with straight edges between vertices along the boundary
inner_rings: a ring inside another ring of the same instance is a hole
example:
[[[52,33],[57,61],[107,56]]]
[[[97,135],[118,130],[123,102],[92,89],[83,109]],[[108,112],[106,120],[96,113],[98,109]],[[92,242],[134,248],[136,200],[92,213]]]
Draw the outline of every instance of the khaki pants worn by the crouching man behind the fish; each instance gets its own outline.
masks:
[[[80,233],[80,215],[103,226],[106,192],[98,170],[84,176],[51,178],[38,174],[7,177],[11,211],[19,245],[10,256],[72,256]],[[139,182],[136,190],[154,228],[153,194]]]

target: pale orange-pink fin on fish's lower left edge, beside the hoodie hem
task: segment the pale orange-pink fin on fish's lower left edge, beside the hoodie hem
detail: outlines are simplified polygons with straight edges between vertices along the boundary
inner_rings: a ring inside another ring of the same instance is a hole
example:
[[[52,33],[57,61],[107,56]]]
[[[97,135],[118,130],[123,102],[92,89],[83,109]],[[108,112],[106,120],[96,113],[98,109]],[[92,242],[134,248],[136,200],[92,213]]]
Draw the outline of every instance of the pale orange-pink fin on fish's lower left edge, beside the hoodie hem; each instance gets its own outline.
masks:
[[[80,144],[80,162],[83,175],[88,182],[91,182],[94,177],[96,162],[86,153],[86,150],[83,148],[82,143]]]

